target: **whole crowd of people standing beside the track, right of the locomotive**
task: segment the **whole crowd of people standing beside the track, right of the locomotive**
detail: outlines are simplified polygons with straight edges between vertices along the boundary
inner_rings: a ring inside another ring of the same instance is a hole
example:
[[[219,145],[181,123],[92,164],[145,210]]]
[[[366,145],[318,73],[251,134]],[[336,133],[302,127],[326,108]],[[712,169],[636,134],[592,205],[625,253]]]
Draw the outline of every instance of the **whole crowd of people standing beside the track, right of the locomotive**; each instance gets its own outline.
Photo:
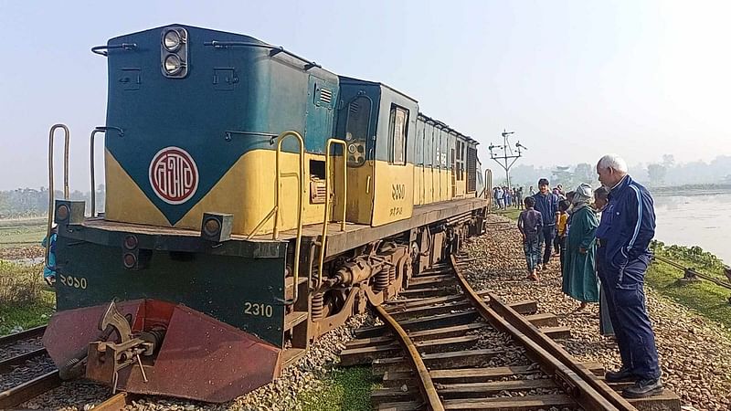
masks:
[[[657,347],[643,289],[655,230],[652,196],[632,180],[617,155],[599,159],[597,174],[601,186],[596,190],[582,183],[565,193],[560,184],[550,189],[542,178],[538,192],[525,197],[518,229],[528,279],[539,280],[539,271],[556,256],[563,292],[579,301],[577,311],[599,303],[600,332],[616,338],[622,366],[605,379],[634,382],[622,391],[626,397],[660,394]]]

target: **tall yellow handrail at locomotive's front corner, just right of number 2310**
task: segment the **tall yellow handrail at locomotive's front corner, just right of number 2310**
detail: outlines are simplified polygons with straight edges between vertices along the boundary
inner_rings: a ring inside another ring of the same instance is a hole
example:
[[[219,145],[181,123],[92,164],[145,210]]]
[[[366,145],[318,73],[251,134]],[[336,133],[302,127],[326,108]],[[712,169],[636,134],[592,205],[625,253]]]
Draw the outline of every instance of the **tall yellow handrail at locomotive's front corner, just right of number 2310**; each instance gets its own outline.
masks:
[[[300,143],[300,174],[284,174],[282,175],[280,172],[280,163],[281,163],[281,142],[284,141],[287,137],[294,137],[297,139],[297,142]],[[300,190],[300,195],[297,196],[297,237],[295,240],[295,246],[294,246],[294,295],[292,296],[291,300],[285,300],[284,303],[287,305],[294,304],[295,301],[299,298],[299,292],[298,292],[298,286],[300,282],[300,249],[302,248],[302,197],[304,196],[304,141],[302,140],[302,135],[300,135],[299,132],[293,132],[293,131],[287,131],[287,132],[281,132],[280,135],[278,135],[273,141],[277,142],[277,153],[276,153],[276,163],[274,165],[275,170],[275,190],[274,190],[274,208],[271,209],[269,214],[264,217],[263,220],[259,223],[257,227],[254,228],[253,231],[251,231],[251,234],[249,234],[249,237],[247,239],[251,239],[254,237],[257,232],[259,232],[260,228],[266,224],[267,221],[270,220],[272,216],[274,216],[274,231],[271,233],[271,239],[279,239],[280,237],[280,209],[281,209],[281,177],[294,177],[297,179],[297,186]]]

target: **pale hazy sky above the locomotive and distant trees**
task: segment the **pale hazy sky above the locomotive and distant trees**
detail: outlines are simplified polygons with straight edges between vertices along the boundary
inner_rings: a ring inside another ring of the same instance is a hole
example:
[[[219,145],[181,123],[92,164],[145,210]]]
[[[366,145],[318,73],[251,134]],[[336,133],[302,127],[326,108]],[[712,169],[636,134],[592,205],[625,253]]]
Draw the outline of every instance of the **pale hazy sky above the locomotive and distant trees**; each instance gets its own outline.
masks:
[[[88,190],[107,87],[106,60],[90,47],[171,23],[258,37],[387,83],[482,142],[483,164],[503,128],[529,148],[521,163],[536,165],[731,154],[729,2],[104,3],[0,0],[0,189],[48,185],[48,128],[64,122],[71,187]]]

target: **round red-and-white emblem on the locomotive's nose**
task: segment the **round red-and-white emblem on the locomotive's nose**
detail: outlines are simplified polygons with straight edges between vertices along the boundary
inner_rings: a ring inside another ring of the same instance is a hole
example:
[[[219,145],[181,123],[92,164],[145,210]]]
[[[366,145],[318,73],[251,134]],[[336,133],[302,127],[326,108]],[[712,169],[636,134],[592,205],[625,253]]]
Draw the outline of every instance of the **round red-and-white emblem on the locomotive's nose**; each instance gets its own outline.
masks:
[[[150,163],[154,194],[168,204],[183,204],[196,194],[198,168],[193,157],[178,147],[157,152]]]

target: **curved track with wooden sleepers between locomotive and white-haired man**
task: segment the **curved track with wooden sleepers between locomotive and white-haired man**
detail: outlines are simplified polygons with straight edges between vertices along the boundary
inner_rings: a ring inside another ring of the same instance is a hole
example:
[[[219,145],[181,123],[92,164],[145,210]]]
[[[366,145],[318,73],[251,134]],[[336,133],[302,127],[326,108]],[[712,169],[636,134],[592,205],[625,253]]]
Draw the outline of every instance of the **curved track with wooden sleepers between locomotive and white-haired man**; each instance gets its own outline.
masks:
[[[411,279],[400,300],[374,307],[384,325],[357,330],[346,344],[344,365],[372,364],[383,378],[374,408],[680,410],[667,390],[621,397],[627,384],[606,384],[600,364],[580,363],[554,341],[570,333],[555,316],[535,313],[532,300],[506,304],[475,292],[463,263],[452,257]]]

